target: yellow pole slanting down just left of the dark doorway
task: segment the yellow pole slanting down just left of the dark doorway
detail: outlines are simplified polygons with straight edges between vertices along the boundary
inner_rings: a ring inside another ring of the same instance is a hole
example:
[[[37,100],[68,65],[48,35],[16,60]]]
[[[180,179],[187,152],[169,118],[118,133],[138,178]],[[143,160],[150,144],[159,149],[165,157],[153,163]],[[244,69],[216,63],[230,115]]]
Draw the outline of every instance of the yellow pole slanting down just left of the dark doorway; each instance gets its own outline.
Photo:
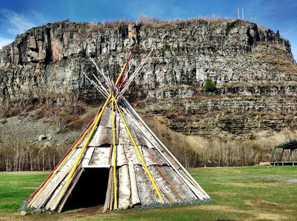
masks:
[[[69,176],[68,176],[68,179],[67,179],[66,183],[63,185],[62,189],[60,190],[59,196],[60,196],[61,193],[64,191],[66,185],[69,183],[70,179],[72,178],[72,176],[73,176],[73,174],[74,174],[74,172],[75,172],[75,170],[76,170],[76,168],[77,168],[77,166],[78,166],[78,163],[79,163],[79,161],[80,161],[80,159],[81,159],[81,157],[82,157],[82,155],[83,155],[85,149],[87,148],[87,146],[88,146],[88,144],[89,144],[91,138],[93,137],[93,133],[94,133],[94,131],[95,131],[96,127],[97,127],[97,124],[98,124],[98,122],[99,122],[99,120],[100,120],[100,118],[101,118],[101,116],[102,116],[102,113],[103,113],[104,109],[106,108],[108,102],[109,102],[110,99],[111,99],[111,95],[112,95],[112,94],[109,95],[109,97],[107,98],[107,100],[106,100],[106,102],[105,102],[105,104],[104,104],[104,106],[103,106],[101,112],[100,112],[99,115],[97,116],[97,119],[96,119],[96,122],[95,122],[95,124],[94,124],[94,126],[93,126],[93,129],[91,130],[91,133],[90,133],[90,135],[89,135],[89,137],[88,137],[86,143],[85,143],[84,146],[81,148],[80,154],[79,154],[79,156],[78,156],[78,158],[77,158],[77,160],[76,160],[76,162],[75,162],[75,164],[74,164],[74,166],[73,166],[73,168],[72,168],[72,170],[71,170],[71,172],[70,172],[70,174],[69,174]]]

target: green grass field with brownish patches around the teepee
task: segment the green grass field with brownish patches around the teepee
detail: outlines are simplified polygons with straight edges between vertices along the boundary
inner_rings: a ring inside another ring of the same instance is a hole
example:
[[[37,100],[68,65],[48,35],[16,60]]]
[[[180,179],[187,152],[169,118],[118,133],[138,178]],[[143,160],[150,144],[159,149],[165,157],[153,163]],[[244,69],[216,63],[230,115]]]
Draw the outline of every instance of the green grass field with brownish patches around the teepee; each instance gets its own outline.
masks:
[[[100,212],[100,207],[21,217],[19,202],[49,172],[0,173],[0,220],[297,220],[297,167],[251,166],[188,170],[215,201],[202,205]]]

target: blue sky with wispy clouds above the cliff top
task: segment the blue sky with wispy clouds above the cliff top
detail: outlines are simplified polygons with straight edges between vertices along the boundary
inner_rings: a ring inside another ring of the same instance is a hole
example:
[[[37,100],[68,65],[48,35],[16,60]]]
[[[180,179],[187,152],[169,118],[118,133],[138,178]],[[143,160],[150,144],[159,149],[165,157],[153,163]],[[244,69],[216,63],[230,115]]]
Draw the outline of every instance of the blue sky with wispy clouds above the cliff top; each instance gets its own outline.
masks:
[[[237,18],[256,15],[257,23],[279,30],[289,39],[297,58],[297,0],[0,0],[0,48],[31,27],[65,20],[91,22],[137,18],[139,14],[160,19],[187,19],[219,15]]]

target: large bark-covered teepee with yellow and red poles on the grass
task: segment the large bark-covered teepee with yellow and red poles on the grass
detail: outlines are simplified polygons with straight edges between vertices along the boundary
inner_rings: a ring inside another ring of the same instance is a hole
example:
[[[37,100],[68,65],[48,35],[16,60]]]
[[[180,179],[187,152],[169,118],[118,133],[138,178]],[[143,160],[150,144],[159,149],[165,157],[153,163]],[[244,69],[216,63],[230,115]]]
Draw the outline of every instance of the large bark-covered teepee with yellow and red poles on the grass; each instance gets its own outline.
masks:
[[[85,76],[106,102],[28,199],[28,207],[61,212],[104,204],[106,211],[209,198],[124,98],[148,58],[128,78],[124,72],[130,56],[115,83],[91,58],[107,87],[95,76],[97,83]]]

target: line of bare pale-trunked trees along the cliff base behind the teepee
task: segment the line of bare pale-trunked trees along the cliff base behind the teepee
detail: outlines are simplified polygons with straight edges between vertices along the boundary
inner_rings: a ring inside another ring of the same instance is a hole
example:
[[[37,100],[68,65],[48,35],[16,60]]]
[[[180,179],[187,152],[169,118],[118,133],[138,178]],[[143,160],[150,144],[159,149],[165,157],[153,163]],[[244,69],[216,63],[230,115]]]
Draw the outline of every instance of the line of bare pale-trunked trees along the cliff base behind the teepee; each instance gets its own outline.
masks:
[[[71,144],[56,146],[34,146],[29,141],[11,141],[0,144],[0,171],[52,170],[68,151]],[[246,140],[243,142],[225,142],[218,138],[201,146],[189,144],[183,148],[168,146],[172,154],[186,168],[199,166],[253,166],[260,162],[268,162],[274,144],[267,147]],[[279,159],[280,150],[275,153]],[[283,159],[287,159],[285,152]],[[291,157],[297,161],[297,157]]]

